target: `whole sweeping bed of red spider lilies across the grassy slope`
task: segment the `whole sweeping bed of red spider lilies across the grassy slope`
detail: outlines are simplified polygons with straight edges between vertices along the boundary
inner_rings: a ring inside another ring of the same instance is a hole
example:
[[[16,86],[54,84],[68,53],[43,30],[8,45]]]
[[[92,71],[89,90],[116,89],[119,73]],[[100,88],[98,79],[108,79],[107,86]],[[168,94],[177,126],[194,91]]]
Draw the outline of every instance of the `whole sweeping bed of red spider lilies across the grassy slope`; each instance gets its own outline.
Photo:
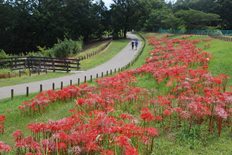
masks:
[[[210,55],[195,47],[196,41],[150,38],[155,47],[142,67],[97,80],[90,87],[71,86],[40,93],[24,102],[24,112],[41,112],[56,101],[76,98],[70,116],[28,125],[31,135],[13,133],[18,154],[150,154],[158,130],[183,124],[231,125],[232,92],[226,92],[227,76],[212,76]],[[150,74],[166,84],[162,96],[136,87],[137,76]],[[140,149],[138,149],[140,148]]]

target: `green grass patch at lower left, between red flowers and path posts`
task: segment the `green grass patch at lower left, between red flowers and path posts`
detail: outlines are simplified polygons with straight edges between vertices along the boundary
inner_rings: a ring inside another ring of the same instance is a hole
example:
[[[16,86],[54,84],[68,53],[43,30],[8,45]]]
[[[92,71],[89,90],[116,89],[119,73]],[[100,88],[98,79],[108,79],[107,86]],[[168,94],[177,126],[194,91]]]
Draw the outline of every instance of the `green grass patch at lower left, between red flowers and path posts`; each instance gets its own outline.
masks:
[[[0,135],[0,141],[4,141],[13,146],[14,139],[12,133],[18,129],[22,130],[25,133],[25,136],[30,134],[30,131],[27,129],[29,123],[36,122],[47,122],[49,120],[58,120],[69,116],[69,110],[73,108],[74,101],[69,102],[57,102],[53,105],[46,108],[45,113],[36,114],[34,116],[24,116],[18,110],[18,106],[26,100],[33,98],[35,94],[30,95],[29,97],[18,96],[14,100],[2,100],[0,101],[0,114],[6,116],[5,121],[5,133]]]

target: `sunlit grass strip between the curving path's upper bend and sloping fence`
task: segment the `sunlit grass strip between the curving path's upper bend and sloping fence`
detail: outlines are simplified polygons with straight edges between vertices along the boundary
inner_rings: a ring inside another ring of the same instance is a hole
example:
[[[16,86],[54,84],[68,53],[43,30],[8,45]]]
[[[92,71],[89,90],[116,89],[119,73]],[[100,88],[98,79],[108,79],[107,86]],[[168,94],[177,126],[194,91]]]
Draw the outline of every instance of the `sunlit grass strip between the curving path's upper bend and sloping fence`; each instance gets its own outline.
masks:
[[[114,40],[110,43],[109,47],[106,48],[104,51],[100,52],[99,54],[86,59],[81,62],[81,70],[87,70],[93,67],[96,67],[102,63],[113,58],[116,54],[118,54],[127,44],[129,40],[127,39],[120,39]]]

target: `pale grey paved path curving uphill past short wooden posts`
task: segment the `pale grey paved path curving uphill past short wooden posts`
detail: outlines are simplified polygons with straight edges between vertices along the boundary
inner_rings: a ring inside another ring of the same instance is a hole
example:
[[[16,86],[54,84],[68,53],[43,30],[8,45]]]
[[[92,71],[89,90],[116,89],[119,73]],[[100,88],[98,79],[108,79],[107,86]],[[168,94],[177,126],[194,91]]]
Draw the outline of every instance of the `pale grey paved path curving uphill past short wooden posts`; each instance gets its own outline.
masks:
[[[127,38],[139,39],[136,35],[131,33],[127,34]],[[139,41],[139,46],[137,50],[132,50],[131,45],[129,43],[112,59],[110,59],[106,63],[103,63],[87,71],[76,72],[75,74],[72,75],[67,75],[67,76],[43,80],[43,81],[36,81],[36,82],[18,84],[14,86],[0,87],[0,100],[10,98],[11,89],[14,90],[14,96],[18,96],[18,95],[26,94],[26,87],[29,87],[30,93],[36,93],[40,91],[40,85],[42,85],[43,90],[51,90],[52,85],[54,83],[55,88],[59,89],[61,87],[61,82],[63,82],[63,86],[65,87],[70,85],[70,80],[72,80],[73,84],[76,84],[78,83],[78,78],[80,79],[80,82],[83,82],[85,77],[87,78],[87,80],[89,80],[91,75],[93,79],[96,78],[96,74],[98,74],[100,77],[102,72],[105,75],[107,71],[110,73],[110,70],[114,71],[115,69],[118,70],[119,68],[126,66],[136,57],[141,47],[142,47],[141,41]]]

